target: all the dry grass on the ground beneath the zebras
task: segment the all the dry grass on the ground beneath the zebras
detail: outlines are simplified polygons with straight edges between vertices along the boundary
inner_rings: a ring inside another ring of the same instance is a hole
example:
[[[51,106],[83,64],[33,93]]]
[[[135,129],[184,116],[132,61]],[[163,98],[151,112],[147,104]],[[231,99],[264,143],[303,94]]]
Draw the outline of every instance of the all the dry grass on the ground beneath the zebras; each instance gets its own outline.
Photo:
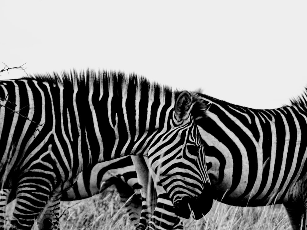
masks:
[[[81,201],[62,202],[63,230],[133,230],[116,190],[110,189]],[[37,228],[35,228],[37,229]],[[201,220],[185,220],[185,230],[291,230],[282,205],[235,207],[214,202]]]

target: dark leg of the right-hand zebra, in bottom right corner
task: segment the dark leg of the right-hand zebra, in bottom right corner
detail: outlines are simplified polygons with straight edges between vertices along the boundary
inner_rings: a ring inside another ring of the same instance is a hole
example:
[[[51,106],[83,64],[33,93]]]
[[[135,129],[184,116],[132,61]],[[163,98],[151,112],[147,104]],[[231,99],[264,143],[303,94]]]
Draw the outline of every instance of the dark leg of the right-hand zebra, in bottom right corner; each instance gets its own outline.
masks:
[[[287,203],[284,204],[284,206],[293,230],[306,230],[306,212],[303,205],[300,205],[299,202],[297,202],[291,204]],[[303,227],[302,224],[305,227]]]

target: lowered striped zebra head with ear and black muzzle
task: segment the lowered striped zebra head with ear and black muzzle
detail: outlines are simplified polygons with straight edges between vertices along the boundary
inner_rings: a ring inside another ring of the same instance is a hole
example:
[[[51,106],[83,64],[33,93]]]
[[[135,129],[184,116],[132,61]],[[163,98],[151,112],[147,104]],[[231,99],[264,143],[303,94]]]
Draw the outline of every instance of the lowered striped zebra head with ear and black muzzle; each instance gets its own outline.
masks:
[[[174,205],[174,212],[200,219],[212,207],[211,185],[201,136],[191,114],[191,94],[182,92],[174,105],[170,128],[148,152],[148,162]],[[206,109],[203,109],[205,112]]]

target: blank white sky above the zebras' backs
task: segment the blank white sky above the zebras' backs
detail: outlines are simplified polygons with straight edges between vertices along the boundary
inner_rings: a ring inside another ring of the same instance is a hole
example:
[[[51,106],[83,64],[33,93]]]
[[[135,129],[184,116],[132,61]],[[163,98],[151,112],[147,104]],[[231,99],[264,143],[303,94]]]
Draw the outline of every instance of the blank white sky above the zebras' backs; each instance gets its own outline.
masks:
[[[2,0],[0,62],[26,62],[29,74],[135,72],[275,108],[307,86],[306,12],[307,1]],[[10,71],[0,79],[23,75]]]

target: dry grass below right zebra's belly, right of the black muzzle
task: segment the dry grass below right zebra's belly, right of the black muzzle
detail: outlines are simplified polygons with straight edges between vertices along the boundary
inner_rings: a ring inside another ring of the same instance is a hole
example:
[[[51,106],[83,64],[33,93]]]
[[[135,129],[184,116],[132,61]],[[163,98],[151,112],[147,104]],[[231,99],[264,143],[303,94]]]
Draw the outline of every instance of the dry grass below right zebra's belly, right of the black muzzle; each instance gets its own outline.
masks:
[[[185,230],[292,230],[282,205],[236,207],[217,201],[202,220],[189,219]]]

